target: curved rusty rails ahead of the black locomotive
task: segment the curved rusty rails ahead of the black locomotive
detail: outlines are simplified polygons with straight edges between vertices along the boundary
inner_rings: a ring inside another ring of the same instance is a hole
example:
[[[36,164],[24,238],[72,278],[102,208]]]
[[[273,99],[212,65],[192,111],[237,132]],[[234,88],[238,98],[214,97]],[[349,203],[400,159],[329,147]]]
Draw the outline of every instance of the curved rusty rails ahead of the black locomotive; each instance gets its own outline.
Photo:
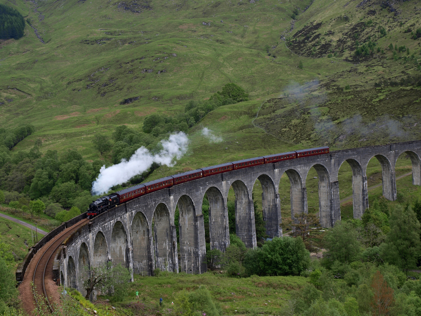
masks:
[[[36,262],[35,270],[32,276],[32,282],[36,286],[35,293],[39,297],[45,298],[45,302],[48,305],[48,308],[51,312],[54,312],[53,306],[50,303],[50,300],[48,299],[47,291],[45,290],[45,271],[52,271],[53,270],[53,263],[54,263],[54,257],[53,254],[56,253],[57,249],[61,246],[63,241],[69,237],[75,230],[77,230],[79,227],[83,226],[85,223],[89,222],[89,219],[86,218],[84,220],[81,220],[76,225],[72,226],[70,230],[65,230],[63,233],[55,236],[53,238],[53,243],[50,244],[46,249],[41,248],[39,251],[43,251],[41,254],[41,257]],[[32,263],[32,262],[31,262]],[[35,264],[33,262],[32,264]],[[40,293],[40,289],[42,288],[42,293]],[[37,295],[34,295],[35,303],[37,304],[38,308],[40,308],[40,304],[37,300]]]

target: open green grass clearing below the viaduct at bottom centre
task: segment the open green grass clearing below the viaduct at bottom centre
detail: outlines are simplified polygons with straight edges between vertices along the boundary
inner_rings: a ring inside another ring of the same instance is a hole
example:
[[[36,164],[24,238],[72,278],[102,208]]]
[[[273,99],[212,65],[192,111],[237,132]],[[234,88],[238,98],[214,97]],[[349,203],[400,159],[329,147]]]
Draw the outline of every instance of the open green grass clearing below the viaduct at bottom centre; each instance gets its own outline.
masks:
[[[208,287],[214,302],[221,306],[223,315],[241,315],[250,312],[279,315],[279,309],[290,298],[290,292],[307,284],[306,279],[299,276],[256,276],[236,279],[218,275],[218,272],[200,275],[162,274],[163,276],[159,277],[135,275],[134,282],[130,284],[127,300],[136,300],[135,292],[138,290],[139,300],[148,308],[155,308],[160,297],[163,298],[164,308],[171,308],[171,302],[175,301],[179,292],[192,291],[204,285]],[[119,305],[123,306],[124,303]]]

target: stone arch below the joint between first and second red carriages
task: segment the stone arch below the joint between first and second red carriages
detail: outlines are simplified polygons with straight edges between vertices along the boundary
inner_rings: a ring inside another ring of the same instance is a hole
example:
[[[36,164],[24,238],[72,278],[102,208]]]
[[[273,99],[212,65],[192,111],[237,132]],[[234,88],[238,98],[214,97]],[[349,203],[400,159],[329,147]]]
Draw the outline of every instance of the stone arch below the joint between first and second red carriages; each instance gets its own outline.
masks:
[[[137,212],[131,224],[133,272],[151,274],[152,261],[149,227],[145,215]]]

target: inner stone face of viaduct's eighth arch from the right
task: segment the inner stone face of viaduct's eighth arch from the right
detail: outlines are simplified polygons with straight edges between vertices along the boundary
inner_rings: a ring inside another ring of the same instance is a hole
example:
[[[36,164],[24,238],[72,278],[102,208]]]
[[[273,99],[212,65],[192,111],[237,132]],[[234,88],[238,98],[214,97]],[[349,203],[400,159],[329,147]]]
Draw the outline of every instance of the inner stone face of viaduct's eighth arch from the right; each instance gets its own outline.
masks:
[[[209,187],[205,194],[209,200],[210,249],[225,251],[229,246],[229,226],[224,197],[217,187]]]

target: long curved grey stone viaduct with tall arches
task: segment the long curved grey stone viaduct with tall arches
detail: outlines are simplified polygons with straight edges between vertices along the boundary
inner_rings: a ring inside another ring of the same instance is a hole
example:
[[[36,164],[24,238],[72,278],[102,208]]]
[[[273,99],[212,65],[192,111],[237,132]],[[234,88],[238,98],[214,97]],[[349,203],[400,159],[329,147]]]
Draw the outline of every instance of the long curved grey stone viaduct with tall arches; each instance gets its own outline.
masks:
[[[352,168],[354,217],[368,208],[366,169],[376,157],[382,167],[383,195],[396,199],[395,163],[402,153],[412,161],[413,185],[421,185],[421,140],[392,145],[338,150],[329,154],[268,163],[229,171],[185,182],[143,195],[121,204],[77,230],[65,241],[58,254],[56,273],[66,286],[82,292],[86,266],[108,261],[121,263],[133,273],[151,275],[155,268],[186,273],[206,271],[205,229],[202,201],[210,203],[209,230],[211,249],[229,246],[227,196],[235,193],[237,236],[248,247],[256,246],[252,189],[256,180],[262,186],[262,209],[266,233],[282,236],[278,187],[285,172],[290,179],[291,215],[307,212],[306,176],[314,167],[319,179],[320,224],[331,227],[341,219],[338,170],[345,161]],[[174,214],[179,209],[178,260]],[[179,269],[180,267],[180,269]]]

